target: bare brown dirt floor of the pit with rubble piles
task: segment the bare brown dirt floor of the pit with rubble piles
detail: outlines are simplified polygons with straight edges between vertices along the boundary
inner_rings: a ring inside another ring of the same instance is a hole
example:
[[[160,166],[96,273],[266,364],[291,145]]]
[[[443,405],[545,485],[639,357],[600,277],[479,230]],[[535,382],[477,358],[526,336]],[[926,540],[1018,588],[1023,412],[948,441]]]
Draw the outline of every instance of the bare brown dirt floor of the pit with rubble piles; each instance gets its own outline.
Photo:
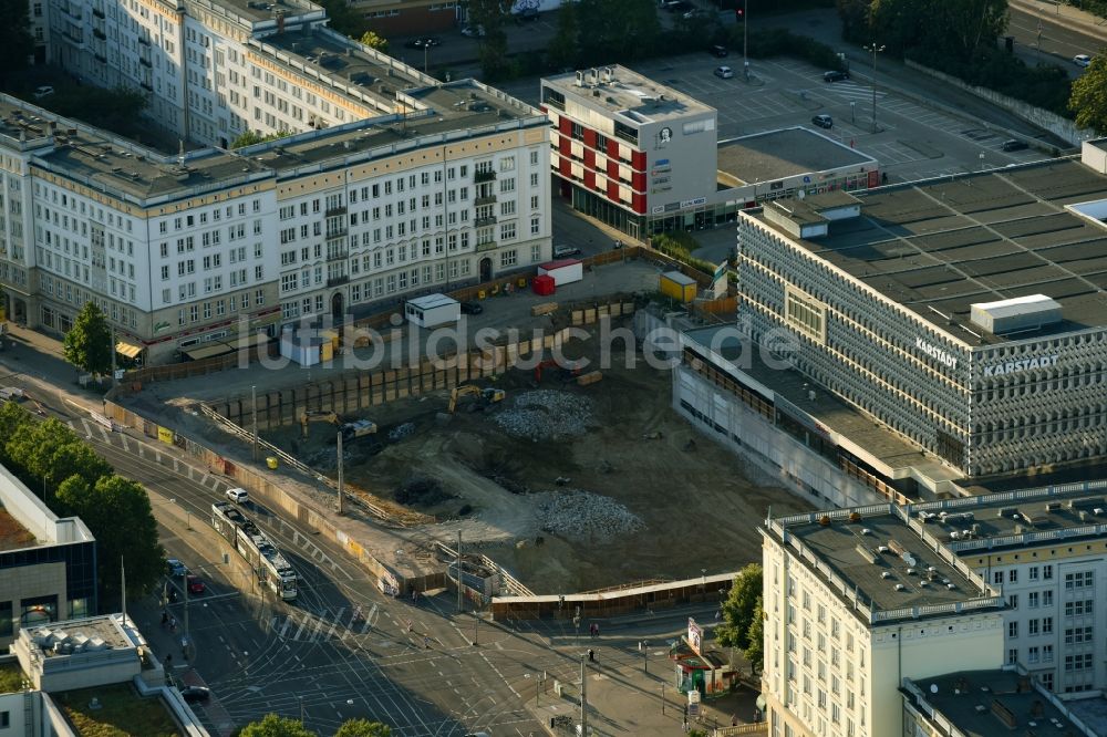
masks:
[[[575,345],[570,357],[582,354],[584,344]],[[554,398],[587,409],[587,429],[557,438],[518,437],[500,424],[498,415],[537,396],[530,371],[489,384],[507,392],[504,402],[472,412],[476,403],[463,398],[448,422],[445,392],[375,407],[368,417],[380,429],[346,444],[345,478],[442,520],[414,531],[413,542],[453,543],[462,530],[467,551],[486,552],[536,593],[691,578],[761,560],[756,528],[768,507],[787,515],[810,506],[752,481],[739,458],[673,412],[668,371],[618,363],[590,386],[547,370],[541,396],[566,393]],[[538,434],[558,424],[542,412],[530,415]],[[307,440],[299,426],[267,436],[328,474],[333,438],[330,426],[315,424]]]

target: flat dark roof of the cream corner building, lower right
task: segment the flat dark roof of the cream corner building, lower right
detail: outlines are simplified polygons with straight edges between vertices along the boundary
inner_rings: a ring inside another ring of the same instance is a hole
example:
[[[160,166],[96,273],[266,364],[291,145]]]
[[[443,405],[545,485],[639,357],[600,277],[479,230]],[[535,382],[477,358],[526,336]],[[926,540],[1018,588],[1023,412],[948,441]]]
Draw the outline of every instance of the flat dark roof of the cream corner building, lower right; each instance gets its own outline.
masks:
[[[789,536],[879,611],[955,604],[990,595],[930,548],[889,505],[881,507],[882,513],[863,513],[857,522],[837,516],[824,525],[824,513],[814,512],[790,517],[783,525]]]

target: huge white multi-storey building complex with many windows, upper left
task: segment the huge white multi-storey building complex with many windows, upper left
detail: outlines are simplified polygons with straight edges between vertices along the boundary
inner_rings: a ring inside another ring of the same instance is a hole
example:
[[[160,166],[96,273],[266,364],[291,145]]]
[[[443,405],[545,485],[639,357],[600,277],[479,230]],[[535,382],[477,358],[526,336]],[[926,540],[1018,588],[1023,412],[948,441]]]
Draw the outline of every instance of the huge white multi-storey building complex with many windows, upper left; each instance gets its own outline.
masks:
[[[64,332],[95,301],[122,353],[159,363],[549,259],[541,113],[353,43],[309,3],[258,6],[51,11],[69,19],[59,61],[146,90],[158,124],[209,147],[169,155],[0,101],[9,314]],[[247,129],[291,135],[224,148]]]

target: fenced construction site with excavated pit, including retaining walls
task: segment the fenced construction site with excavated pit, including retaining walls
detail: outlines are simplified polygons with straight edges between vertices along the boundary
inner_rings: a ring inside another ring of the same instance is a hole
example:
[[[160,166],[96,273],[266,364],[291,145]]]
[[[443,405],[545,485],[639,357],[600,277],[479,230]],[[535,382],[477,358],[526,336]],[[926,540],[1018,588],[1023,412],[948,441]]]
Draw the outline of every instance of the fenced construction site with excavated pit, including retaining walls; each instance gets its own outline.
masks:
[[[287,511],[303,518],[289,501],[299,495],[330,513],[397,581],[443,571],[458,534],[474,564],[486,556],[536,594],[736,571],[761,559],[756,520],[809,505],[680,417],[671,372],[635,341],[601,360],[599,323],[629,325],[633,311],[573,313],[587,340],[556,332],[452,371],[344,372],[206,403],[162,384],[157,424],[201,443],[236,484],[257,474],[259,496]],[[125,401],[148,417],[144,394]],[[267,447],[247,471],[254,401]]]

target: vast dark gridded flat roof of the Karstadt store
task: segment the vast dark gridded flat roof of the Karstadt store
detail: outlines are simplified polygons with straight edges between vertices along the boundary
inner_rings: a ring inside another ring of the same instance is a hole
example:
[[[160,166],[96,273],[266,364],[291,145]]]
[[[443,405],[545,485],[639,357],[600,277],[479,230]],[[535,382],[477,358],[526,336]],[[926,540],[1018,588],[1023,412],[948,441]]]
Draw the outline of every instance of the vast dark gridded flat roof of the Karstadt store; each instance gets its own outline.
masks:
[[[1004,342],[970,322],[970,305],[1027,294],[1059,302],[1063,320],[1017,339],[1107,325],[1107,228],[1066,209],[1107,198],[1107,176],[1078,160],[855,194],[859,218],[796,242],[935,330],[971,346]]]

